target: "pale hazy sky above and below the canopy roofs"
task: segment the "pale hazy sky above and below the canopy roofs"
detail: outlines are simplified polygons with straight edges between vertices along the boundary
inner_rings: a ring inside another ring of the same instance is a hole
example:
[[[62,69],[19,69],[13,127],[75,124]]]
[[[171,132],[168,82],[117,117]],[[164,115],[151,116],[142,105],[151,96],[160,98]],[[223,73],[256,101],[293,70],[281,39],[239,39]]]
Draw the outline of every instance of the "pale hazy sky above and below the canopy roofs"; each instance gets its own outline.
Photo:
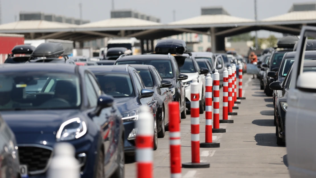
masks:
[[[112,0],[0,0],[2,23],[19,20],[19,12],[44,12],[80,18],[79,3],[82,3],[82,18],[100,21],[110,18]],[[308,0],[257,0],[258,20],[288,12],[293,3],[316,2]],[[254,0],[114,0],[114,9],[133,9],[159,17],[162,23],[201,15],[201,7],[222,6],[232,16],[254,19]],[[276,34],[260,31],[259,37]]]

